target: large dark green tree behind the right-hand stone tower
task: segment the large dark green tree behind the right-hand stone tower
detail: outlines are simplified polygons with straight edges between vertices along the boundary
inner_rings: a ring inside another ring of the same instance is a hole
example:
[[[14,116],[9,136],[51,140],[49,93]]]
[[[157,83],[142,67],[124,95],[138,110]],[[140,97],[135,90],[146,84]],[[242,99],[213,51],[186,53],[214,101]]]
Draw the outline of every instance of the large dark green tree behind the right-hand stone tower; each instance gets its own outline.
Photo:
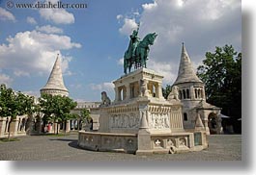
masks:
[[[197,75],[205,83],[207,101],[222,108],[222,113],[242,117],[242,53],[232,45],[207,52]]]

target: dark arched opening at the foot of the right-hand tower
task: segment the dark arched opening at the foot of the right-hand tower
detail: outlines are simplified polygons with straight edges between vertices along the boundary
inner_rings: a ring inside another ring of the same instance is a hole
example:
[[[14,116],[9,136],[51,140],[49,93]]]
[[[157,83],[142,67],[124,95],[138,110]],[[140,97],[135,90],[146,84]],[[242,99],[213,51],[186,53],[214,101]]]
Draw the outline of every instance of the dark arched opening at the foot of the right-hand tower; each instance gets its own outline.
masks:
[[[208,115],[208,127],[211,135],[221,134],[221,119],[214,112]]]

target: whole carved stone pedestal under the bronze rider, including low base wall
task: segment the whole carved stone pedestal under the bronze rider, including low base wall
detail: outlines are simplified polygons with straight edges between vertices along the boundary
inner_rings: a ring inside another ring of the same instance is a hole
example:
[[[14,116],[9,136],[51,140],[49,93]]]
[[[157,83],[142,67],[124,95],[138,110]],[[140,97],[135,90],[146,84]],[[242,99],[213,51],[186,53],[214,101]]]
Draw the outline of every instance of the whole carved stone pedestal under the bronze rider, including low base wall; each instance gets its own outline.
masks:
[[[137,155],[204,149],[205,140],[185,132],[180,100],[162,97],[162,76],[141,68],[114,81],[116,98],[100,107],[99,132],[79,132],[78,145],[100,151]],[[203,132],[203,131],[197,131]]]

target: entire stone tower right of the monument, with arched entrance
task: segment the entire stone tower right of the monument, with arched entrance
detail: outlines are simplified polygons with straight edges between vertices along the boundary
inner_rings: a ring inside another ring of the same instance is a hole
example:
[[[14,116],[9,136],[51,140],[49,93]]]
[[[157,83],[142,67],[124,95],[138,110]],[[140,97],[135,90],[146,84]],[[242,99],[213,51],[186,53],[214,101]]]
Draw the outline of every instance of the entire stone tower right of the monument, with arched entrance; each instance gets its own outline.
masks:
[[[221,109],[206,102],[205,84],[195,74],[184,43],[178,77],[173,86],[179,87],[179,99],[183,103],[185,129],[194,129],[196,121],[199,119],[202,120],[208,134],[220,134],[222,132],[219,115]]]

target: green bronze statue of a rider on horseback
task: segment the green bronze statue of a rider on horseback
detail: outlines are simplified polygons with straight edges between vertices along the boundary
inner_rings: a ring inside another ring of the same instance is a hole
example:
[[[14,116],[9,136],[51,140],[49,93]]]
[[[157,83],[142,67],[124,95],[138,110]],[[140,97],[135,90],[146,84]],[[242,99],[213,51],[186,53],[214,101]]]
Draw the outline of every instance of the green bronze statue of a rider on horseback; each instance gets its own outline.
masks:
[[[130,72],[132,65],[134,69],[140,67],[147,67],[147,60],[150,51],[150,45],[154,44],[156,33],[148,34],[145,38],[140,40],[138,38],[139,27],[129,36],[128,50],[124,56],[124,72]]]

